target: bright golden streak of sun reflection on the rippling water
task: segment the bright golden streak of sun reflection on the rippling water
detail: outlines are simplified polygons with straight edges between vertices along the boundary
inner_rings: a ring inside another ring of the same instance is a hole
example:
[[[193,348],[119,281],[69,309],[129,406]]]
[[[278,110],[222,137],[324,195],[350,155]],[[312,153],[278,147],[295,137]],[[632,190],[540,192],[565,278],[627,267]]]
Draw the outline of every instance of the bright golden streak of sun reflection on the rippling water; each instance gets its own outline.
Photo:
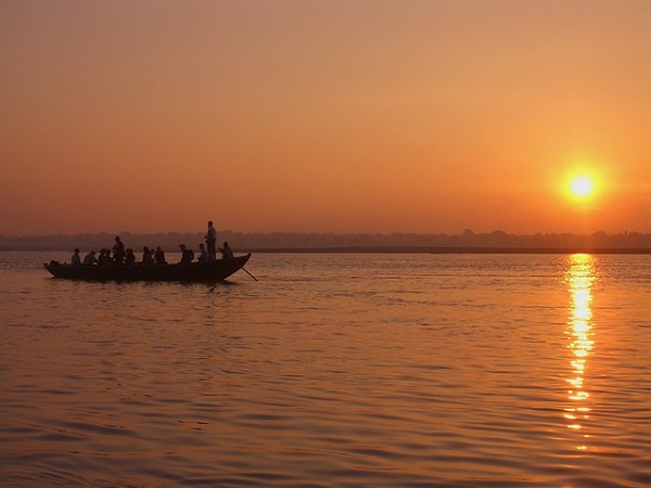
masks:
[[[567,348],[572,351],[572,375],[566,378],[570,389],[567,398],[570,404],[565,408],[564,418],[567,428],[582,432],[590,418],[590,394],[585,386],[585,376],[588,357],[595,346],[592,322],[592,283],[596,279],[595,258],[588,254],[574,254],[567,258],[565,281],[569,286],[571,301],[565,334],[570,343]],[[582,445],[578,450],[586,450],[585,442],[588,434],[583,434]]]

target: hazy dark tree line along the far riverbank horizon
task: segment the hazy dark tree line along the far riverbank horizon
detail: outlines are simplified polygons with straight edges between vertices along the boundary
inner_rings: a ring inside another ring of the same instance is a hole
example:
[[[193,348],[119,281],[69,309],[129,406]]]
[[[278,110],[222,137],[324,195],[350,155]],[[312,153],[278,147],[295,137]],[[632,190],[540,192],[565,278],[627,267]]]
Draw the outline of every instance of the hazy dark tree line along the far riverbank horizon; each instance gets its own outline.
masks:
[[[164,251],[178,251],[179,244],[186,244],[194,249],[204,242],[203,233],[167,232],[155,234],[132,234],[122,232],[120,237],[127,247],[136,252],[143,246],[161,246]],[[66,251],[79,247],[81,249],[99,251],[102,247],[111,248],[115,234],[84,233],[84,234],[52,234],[52,235],[0,235],[0,249],[5,251]],[[595,232],[591,234],[571,233],[537,233],[537,234],[509,234],[503,231],[475,233],[465,229],[460,234],[417,234],[417,233],[302,233],[302,232],[270,232],[245,233],[231,230],[218,231],[218,243],[224,241],[238,252],[244,251],[275,251],[275,249],[336,249],[336,248],[622,248],[622,249],[651,249],[651,234],[639,232],[623,232],[607,234]]]

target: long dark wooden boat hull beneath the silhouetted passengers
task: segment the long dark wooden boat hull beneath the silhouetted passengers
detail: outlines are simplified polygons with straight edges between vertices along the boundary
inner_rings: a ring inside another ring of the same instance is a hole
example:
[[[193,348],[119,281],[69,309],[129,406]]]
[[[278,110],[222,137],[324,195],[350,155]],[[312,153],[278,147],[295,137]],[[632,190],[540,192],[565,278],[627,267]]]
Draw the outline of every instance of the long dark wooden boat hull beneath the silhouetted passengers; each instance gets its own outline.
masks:
[[[244,268],[251,253],[232,259],[178,262],[174,265],[67,265],[43,262],[54,278],[90,281],[224,281]],[[244,270],[246,271],[246,270]]]

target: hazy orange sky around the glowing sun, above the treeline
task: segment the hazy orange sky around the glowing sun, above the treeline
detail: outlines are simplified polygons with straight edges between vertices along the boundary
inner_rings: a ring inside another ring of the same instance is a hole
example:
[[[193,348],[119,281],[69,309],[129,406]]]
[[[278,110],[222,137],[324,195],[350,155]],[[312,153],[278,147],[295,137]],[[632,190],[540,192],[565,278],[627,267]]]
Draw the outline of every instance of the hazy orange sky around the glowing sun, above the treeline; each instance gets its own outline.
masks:
[[[0,0],[0,234],[208,219],[651,232],[651,0]]]

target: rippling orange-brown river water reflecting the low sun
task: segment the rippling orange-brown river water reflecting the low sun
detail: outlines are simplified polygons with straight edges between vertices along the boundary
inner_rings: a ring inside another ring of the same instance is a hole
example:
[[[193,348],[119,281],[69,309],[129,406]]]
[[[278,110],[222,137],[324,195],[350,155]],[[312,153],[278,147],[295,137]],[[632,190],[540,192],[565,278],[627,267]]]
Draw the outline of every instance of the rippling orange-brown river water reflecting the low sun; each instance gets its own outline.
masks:
[[[651,486],[651,256],[0,253],[9,487]]]

